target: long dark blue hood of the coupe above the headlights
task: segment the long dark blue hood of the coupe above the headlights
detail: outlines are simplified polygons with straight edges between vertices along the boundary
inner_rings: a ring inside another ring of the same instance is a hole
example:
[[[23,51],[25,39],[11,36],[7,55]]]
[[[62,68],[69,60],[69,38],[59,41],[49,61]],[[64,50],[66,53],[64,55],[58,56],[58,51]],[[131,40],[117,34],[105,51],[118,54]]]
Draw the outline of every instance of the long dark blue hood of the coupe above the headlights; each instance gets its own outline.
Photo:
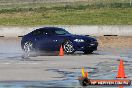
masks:
[[[63,37],[70,38],[70,39],[83,39],[85,41],[97,41],[95,38],[90,36],[83,36],[83,35],[62,35]]]

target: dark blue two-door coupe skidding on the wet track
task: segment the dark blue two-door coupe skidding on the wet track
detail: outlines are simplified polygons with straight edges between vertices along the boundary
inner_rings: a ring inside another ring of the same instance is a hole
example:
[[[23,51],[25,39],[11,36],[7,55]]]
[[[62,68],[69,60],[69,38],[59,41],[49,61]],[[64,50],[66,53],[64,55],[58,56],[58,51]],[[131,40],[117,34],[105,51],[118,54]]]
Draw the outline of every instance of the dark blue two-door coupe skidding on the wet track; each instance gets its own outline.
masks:
[[[38,28],[24,35],[21,40],[24,52],[59,51],[61,46],[66,54],[73,54],[75,51],[88,54],[97,50],[98,42],[95,38],[74,35],[59,27]]]

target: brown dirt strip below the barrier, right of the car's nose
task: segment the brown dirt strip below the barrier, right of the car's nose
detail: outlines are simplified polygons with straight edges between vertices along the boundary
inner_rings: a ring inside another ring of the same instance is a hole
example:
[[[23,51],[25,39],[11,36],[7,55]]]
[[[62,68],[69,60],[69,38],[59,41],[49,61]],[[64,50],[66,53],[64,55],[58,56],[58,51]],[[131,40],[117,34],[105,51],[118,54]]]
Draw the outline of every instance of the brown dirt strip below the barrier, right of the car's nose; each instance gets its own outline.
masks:
[[[132,37],[102,36],[97,37],[99,47],[129,48],[132,47]]]

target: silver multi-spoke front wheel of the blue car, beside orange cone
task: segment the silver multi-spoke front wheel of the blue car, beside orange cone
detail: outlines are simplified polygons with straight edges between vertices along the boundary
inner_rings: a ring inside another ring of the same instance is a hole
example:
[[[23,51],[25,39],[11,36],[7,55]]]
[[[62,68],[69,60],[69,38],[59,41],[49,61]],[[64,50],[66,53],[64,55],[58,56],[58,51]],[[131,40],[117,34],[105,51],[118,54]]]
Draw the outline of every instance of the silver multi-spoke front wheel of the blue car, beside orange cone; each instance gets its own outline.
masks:
[[[63,48],[66,54],[73,54],[75,52],[73,43],[70,40],[67,40],[66,42],[64,42]]]

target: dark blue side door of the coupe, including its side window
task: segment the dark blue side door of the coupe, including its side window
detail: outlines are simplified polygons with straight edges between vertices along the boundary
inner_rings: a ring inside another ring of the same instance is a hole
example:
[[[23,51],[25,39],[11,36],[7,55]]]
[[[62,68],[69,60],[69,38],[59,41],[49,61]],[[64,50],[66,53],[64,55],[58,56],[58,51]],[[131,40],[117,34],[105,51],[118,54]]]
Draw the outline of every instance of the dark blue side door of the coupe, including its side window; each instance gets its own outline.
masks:
[[[39,50],[58,51],[63,38],[54,34],[54,28],[41,28],[35,34],[35,46]]]

